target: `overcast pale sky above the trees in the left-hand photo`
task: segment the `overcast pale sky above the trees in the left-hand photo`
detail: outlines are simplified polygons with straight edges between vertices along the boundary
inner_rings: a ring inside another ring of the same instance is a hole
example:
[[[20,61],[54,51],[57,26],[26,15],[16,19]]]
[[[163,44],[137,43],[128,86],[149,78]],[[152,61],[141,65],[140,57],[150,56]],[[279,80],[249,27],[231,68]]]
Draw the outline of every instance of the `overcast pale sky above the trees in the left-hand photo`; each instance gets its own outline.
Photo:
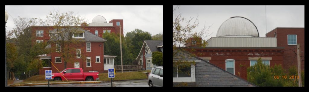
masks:
[[[15,28],[13,18],[20,16],[45,19],[50,11],[58,9],[60,12],[73,11],[78,13],[85,17],[88,24],[97,15],[105,17],[107,21],[123,19],[124,34],[136,28],[153,35],[163,33],[162,6],[5,6],[5,10],[10,14],[6,23],[6,30]]]

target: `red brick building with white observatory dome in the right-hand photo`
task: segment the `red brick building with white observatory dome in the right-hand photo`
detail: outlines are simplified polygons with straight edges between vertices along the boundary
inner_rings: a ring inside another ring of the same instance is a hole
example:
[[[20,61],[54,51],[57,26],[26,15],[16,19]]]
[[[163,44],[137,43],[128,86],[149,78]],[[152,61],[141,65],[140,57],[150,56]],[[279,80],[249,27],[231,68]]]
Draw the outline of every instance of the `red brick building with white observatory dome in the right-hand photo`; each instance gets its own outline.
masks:
[[[207,40],[205,48],[197,46],[201,41],[191,39],[191,42],[187,46],[190,53],[243,79],[247,77],[246,67],[254,65],[258,58],[270,66],[281,64],[285,69],[291,63],[297,65],[297,57],[290,50],[296,43],[301,44],[304,56],[304,28],[276,28],[260,37],[253,22],[244,17],[231,17],[223,22],[217,37]],[[303,69],[304,57],[301,62]]]

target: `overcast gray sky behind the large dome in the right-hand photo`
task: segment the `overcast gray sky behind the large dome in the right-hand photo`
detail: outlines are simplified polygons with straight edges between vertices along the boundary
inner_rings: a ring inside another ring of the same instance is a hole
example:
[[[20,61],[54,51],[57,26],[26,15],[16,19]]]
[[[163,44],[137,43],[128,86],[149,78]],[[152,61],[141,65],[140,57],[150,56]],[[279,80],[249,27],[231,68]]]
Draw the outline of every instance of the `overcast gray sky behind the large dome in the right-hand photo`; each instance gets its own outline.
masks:
[[[173,9],[176,6],[173,6]],[[305,27],[304,6],[266,6],[267,32],[276,27]],[[205,26],[213,26],[210,37],[216,37],[220,25],[234,16],[246,17],[257,27],[260,37],[265,37],[265,6],[179,6],[179,10],[173,13],[175,17],[178,12],[181,16],[189,19],[198,15],[199,31]]]

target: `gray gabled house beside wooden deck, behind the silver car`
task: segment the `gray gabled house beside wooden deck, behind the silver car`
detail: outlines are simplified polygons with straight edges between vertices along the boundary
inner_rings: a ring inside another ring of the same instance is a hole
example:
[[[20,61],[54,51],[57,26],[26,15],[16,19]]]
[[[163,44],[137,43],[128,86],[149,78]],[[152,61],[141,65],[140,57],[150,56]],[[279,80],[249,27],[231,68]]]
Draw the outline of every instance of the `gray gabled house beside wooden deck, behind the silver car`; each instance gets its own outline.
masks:
[[[143,65],[145,70],[151,70],[153,67],[156,67],[152,64],[152,53],[156,51],[163,52],[163,41],[145,40],[135,60],[138,61],[138,64]]]

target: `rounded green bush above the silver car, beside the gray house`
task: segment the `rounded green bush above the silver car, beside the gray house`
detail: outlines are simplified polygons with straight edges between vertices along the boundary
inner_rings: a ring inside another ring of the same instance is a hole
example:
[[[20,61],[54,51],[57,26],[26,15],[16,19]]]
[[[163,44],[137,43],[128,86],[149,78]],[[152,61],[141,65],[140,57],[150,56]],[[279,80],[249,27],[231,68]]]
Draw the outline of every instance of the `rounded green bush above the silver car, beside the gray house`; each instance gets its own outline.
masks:
[[[156,66],[163,65],[163,53],[162,52],[153,52],[152,53],[152,63]]]

